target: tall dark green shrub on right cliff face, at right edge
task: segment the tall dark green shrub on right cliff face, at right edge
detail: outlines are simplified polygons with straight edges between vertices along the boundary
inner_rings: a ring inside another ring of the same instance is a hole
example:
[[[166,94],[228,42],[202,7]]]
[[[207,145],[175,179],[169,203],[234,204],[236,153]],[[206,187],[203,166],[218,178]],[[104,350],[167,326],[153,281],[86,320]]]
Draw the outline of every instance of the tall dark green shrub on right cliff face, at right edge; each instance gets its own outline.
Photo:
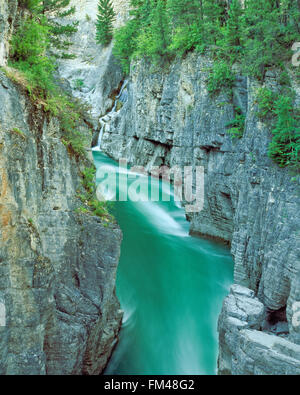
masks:
[[[300,110],[293,109],[292,99],[280,96],[275,102],[276,125],[269,156],[280,167],[300,170]]]

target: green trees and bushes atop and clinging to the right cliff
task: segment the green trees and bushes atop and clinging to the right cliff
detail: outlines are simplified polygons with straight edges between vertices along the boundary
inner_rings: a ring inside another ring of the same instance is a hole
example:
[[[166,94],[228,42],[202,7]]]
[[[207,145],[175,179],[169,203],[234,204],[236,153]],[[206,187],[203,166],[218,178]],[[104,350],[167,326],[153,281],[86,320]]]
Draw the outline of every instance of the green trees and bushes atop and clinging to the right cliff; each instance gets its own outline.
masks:
[[[245,0],[241,4],[240,0],[229,5],[226,0],[131,0],[131,18],[115,33],[114,54],[128,73],[132,59],[146,57],[162,65],[188,51],[209,51],[215,60],[208,78],[211,93],[232,88],[232,66],[237,64],[261,83],[270,68],[286,76],[291,48],[300,40],[299,1]],[[299,71],[294,71],[299,77]],[[276,121],[269,155],[282,167],[300,168],[297,114],[290,94],[278,98],[270,113]],[[243,123],[237,114],[230,129],[233,136],[242,136]]]

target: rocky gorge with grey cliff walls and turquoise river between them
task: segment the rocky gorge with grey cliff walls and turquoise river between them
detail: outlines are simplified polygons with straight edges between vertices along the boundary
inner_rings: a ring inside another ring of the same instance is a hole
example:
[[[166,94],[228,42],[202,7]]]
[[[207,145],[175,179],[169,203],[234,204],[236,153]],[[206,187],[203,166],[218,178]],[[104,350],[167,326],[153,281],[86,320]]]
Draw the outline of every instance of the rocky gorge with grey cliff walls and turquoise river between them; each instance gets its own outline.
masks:
[[[71,0],[53,100],[12,54],[23,21],[43,20],[25,3],[0,0],[0,374],[299,375],[299,174],[268,155],[258,103],[281,71],[262,81],[235,63],[214,94],[210,51],[124,72],[116,41],[96,43],[98,0]],[[130,7],[112,4],[117,29]],[[153,168],[189,167],[195,191],[202,168],[202,209],[162,180],[168,201],[100,203],[101,168],[119,177],[120,159],[130,183],[143,167],[145,190]]]

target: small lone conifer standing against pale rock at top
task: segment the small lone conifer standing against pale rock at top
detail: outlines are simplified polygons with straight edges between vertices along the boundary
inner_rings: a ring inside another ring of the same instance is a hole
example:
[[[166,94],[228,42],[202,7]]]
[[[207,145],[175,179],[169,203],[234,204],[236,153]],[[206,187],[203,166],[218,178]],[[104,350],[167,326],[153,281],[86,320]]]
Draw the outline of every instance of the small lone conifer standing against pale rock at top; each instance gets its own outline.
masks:
[[[96,41],[108,45],[113,38],[113,21],[115,12],[111,0],[99,0]]]

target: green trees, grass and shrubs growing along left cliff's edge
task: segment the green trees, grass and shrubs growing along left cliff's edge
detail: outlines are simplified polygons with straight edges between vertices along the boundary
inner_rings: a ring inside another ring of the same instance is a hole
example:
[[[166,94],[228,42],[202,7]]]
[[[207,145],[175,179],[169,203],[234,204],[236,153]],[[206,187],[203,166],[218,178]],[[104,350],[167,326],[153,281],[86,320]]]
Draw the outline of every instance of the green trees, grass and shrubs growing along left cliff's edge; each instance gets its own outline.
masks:
[[[86,108],[63,92],[55,79],[56,59],[72,57],[65,51],[76,23],[60,25],[54,20],[74,13],[73,7],[66,8],[69,3],[70,0],[19,0],[23,14],[11,40],[9,67],[4,71],[28,91],[35,105],[59,118],[62,142],[78,159],[86,157],[87,142],[78,130]],[[21,136],[20,131],[12,132]],[[96,199],[94,175],[94,169],[82,172],[86,193],[78,196],[84,203],[78,211],[92,213],[106,223],[112,217],[106,204]]]

